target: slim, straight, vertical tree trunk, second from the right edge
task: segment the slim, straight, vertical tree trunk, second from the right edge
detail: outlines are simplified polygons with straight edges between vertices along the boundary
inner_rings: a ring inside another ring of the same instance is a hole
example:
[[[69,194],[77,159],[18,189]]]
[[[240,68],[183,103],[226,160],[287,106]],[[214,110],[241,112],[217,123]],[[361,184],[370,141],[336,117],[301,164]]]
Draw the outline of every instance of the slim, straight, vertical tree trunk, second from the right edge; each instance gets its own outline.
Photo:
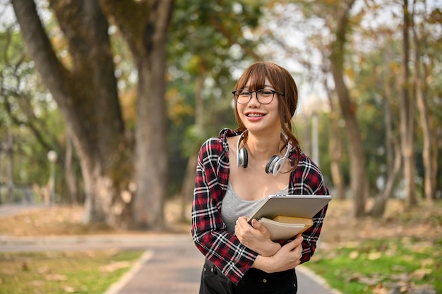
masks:
[[[404,24],[402,29],[402,101],[400,104],[400,141],[404,161],[405,197],[408,206],[417,204],[414,183],[414,105],[410,97],[410,13],[408,0],[402,4]]]

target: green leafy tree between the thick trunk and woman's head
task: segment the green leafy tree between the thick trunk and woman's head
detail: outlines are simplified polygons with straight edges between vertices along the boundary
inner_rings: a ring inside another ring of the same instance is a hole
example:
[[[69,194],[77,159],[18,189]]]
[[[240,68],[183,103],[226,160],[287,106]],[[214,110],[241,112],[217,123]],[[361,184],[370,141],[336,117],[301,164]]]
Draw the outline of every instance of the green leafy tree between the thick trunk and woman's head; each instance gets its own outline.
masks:
[[[244,31],[258,25],[263,2],[176,1],[168,48],[170,66],[174,66],[170,87],[180,87],[175,92],[187,94],[193,109],[181,146],[188,157],[179,192],[181,219],[186,214],[184,204],[193,195],[198,149],[207,137],[233,122],[227,119],[234,118],[232,68],[261,59],[254,50],[258,41],[244,37]],[[191,85],[189,93],[183,85]]]

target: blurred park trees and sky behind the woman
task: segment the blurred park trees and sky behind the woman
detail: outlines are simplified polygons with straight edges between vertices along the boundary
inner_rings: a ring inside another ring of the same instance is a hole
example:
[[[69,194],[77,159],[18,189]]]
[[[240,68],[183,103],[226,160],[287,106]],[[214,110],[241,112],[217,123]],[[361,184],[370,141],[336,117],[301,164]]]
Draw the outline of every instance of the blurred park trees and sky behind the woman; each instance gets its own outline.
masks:
[[[251,63],[287,68],[303,151],[352,216],[442,196],[440,1],[0,1],[0,204],[189,217],[196,154]]]

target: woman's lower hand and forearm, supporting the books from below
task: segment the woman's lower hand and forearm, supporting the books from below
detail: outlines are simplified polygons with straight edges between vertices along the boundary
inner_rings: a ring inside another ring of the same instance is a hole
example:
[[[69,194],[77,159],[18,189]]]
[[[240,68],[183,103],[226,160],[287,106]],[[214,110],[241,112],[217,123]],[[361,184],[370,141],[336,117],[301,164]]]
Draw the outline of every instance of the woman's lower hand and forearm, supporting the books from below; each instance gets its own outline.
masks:
[[[280,250],[271,257],[258,255],[252,267],[268,273],[294,269],[301,264],[302,240],[302,236],[297,237],[292,240],[292,242],[282,246]]]

